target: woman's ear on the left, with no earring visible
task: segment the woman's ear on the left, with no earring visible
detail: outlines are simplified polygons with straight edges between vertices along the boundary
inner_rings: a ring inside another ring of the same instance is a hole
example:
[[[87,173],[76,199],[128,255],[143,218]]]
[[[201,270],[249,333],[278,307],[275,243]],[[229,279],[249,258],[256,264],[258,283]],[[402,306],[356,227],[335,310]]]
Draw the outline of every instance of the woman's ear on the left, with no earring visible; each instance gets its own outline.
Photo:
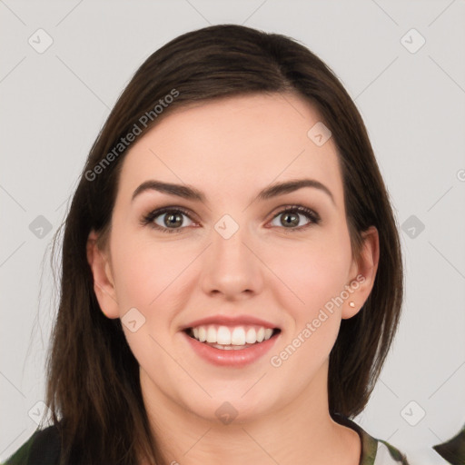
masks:
[[[97,234],[93,231],[87,239],[87,262],[94,276],[94,292],[100,308],[107,318],[119,318],[119,305],[116,301],[114,278],[107,253],[97,245]]]

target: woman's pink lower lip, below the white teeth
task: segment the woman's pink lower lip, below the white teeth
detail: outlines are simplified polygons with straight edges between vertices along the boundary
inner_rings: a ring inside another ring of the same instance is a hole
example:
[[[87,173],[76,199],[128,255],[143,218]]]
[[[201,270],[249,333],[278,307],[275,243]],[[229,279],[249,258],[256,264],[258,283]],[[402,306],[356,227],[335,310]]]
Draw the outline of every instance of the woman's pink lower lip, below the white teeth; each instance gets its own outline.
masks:
[[[193,351],[205,361],[213,365],[243,367],[260,359],[267,351],[270,351],[274,342],[278,339],[280,332],[274,334],[267,341],[255,343],[250,347],[238,350],[216,349],[208,344],[197,341],[183,331],[184,337],[191,344]]]

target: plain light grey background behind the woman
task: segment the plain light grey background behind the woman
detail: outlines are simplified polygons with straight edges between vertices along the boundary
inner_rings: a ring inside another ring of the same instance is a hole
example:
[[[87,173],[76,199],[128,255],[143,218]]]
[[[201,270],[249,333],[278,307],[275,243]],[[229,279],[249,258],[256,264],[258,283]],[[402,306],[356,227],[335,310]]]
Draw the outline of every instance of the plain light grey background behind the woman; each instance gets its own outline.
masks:
[[[0,460],[32,434],[44,409],[57,303],[50,242],[94,138],[149,54],[221,23],[302,41],[358,105],[401,226],[406,299],[381,379],[356,420],[413,463],[444,463],[430,446],[465,423],[465,2],[458,0],[0,1]],[[39,53],[47,35],[53,44]],[[421,36],[426,43],[416,50]]]

